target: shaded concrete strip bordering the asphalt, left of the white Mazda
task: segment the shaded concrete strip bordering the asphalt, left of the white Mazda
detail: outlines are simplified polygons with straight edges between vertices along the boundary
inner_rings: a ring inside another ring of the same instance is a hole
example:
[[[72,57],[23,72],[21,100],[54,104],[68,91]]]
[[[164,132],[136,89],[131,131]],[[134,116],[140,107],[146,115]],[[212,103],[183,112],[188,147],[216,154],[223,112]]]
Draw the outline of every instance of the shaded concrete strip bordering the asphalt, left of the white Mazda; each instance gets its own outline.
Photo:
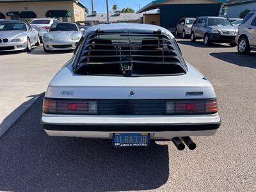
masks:
[[[12,111],[10,115],[4,118],[3,122],[0,124],[0,138],[5,132],[8,131],[8,129],[10,129],[10,127],[12,127],[13,124],[15,124],[15,122],[17,122],[17,120],[19,120],[20,116],[22,116],[26,111],[28,111],[29,108],[31,108],[31,106],[33,106],[33,104],[35,104],[36,100],[42,97],[42,95],[44,95],[44,93],[33,95],[31,99],[22,103],[18,108]]]

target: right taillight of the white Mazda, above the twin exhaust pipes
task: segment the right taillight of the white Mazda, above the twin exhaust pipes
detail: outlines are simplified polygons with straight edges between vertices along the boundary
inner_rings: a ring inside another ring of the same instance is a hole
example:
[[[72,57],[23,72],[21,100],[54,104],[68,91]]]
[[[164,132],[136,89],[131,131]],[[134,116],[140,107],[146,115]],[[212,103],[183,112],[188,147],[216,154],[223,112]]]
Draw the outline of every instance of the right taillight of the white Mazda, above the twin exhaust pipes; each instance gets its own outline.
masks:
[[[217,113],[217,100],[166,100],[165,113],[170,115],[193,115]]]

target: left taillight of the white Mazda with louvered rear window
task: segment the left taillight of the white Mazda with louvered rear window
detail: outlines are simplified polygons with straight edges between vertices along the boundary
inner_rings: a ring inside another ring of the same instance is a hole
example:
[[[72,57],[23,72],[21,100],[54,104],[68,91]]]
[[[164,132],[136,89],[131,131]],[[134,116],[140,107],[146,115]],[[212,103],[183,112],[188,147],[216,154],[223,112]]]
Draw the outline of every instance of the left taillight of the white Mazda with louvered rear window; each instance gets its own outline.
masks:
[[[93,115],[98,113],[98,102],[94,100],[44,99],[44,113]]]

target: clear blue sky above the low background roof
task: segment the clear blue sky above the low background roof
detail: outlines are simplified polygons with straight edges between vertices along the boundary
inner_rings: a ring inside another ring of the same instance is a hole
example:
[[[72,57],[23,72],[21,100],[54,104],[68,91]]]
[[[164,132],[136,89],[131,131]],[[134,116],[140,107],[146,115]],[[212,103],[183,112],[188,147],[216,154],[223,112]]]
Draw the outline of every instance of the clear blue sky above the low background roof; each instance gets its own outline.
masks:
[[[86,7],[89,9],[89,12],[92,11],[92,0],[82,0]],[[153,0],[108,0],[109,10],[112,10],[113,4],[117,4],[118,10],[122,8],[132,8],[135,11],[139,10],[139,7],[142,8],[146,4],[150,3]],[[106,13],[106,0],[93,0],[94,10],[98,13]]]

